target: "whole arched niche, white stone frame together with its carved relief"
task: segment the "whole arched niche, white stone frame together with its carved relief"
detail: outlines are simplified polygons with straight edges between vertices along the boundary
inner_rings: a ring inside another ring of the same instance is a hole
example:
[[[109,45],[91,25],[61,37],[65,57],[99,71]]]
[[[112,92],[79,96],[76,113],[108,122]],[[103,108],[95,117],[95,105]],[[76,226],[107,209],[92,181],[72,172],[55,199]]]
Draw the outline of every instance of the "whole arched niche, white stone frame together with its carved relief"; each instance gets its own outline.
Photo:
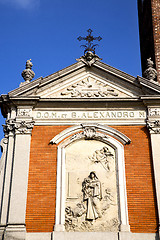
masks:
[[[54,231],[130,231],[124,163],[130,139],[108,126],[81,124],[51,143],[58,144]]]

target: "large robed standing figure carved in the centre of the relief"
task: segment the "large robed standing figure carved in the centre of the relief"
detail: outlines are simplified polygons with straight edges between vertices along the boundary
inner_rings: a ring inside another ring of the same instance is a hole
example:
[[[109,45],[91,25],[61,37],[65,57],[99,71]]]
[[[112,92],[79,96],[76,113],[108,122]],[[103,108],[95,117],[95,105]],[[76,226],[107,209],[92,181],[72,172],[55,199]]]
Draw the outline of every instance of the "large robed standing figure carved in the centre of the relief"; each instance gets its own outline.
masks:
[[[89,176],[82,182],[83,201],[87,204],[87,220],[101,218],[100,201],[102,199],[101,183],[95,172],[90,172]]]

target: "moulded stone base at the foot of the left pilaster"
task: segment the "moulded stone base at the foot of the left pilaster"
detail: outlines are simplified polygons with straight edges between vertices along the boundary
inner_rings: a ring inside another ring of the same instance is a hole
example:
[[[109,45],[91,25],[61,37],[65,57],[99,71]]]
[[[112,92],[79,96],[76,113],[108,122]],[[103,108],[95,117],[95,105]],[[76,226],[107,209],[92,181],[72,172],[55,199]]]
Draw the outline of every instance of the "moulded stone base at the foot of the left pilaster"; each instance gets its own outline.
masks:
[[[8,225],[4,232],[3,240],[26,240],[26,228],[24,225]]]

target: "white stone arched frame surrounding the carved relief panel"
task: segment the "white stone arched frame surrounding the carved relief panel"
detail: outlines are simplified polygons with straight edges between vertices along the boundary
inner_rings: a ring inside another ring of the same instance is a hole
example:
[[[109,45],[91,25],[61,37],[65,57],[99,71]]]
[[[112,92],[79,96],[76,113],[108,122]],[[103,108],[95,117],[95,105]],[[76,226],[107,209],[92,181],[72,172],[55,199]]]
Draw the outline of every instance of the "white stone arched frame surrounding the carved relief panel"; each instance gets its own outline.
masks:
[[[120,213],[120,231],[130,231],[128,221],[127,191],[125,179],[124,146],[130,143],[130,139],[121,132],[100,124],[81,124],[67,128],[56,135],[50,143],[58,144],[57,147],[57,188],[56,188],[56,218],[54,231],[65,231],[65,148],[77,139],[67,138],[74,133],[83,131],[84,127],[96,127],[97,132],[103,133],[103,141],[112,146],[116,151],[118,183],[119,183],[119,213]],[[113,136],[113,137],[111,137]],[[80,139],[78,139],[80,140]],[[96,140],[96,139],[95,139]],[[123,143],[123,144],[122,144]]]

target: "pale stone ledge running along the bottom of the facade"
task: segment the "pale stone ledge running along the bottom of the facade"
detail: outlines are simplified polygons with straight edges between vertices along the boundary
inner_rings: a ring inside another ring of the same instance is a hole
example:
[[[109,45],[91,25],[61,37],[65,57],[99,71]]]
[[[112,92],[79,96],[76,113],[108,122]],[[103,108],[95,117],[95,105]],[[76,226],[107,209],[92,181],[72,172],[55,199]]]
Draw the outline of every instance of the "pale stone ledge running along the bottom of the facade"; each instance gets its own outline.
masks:
[[[22,228],[21,231],[20,228],[13,231],[12,227],[6,229],[4,238],[2,236],[3,234],[0,240],[159,240],[156,233],[55,231],[53,233],[26,233],[25,230],[22,231]]]

